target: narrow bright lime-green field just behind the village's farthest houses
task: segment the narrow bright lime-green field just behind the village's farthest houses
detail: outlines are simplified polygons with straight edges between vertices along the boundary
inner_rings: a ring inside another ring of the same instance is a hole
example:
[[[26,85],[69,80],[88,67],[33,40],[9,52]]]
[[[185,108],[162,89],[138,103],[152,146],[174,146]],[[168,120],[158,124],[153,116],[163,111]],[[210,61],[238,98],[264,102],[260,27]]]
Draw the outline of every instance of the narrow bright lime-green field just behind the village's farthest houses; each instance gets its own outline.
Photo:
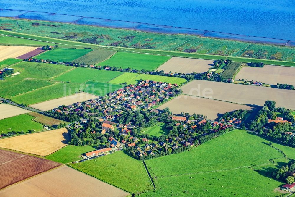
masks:
[[[113,80],[110,80],[110,83],[127,83],[129,84],[135,84],[138,83],[139,80],[152,80],[152,81],[158,81],[158,82],[166,82],[166,83],[177,83],[178,85],[186,82],[183,78],[178,77],[166,77],[166,76],[160,76],[160,75],[148,75],[148,74],[137,74],[137,73],[129,73],[125,72],[119,77],[114,78]]]

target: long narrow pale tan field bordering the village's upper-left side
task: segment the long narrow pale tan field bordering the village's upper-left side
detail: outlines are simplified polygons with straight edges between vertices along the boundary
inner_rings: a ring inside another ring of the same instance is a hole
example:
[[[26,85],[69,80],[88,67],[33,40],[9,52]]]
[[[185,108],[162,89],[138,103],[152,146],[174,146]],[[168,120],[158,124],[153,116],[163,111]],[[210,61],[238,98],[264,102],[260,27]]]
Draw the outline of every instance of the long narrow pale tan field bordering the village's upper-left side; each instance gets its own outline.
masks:
[[[98,96],[95,96],[93,94],[89,94],[86,92],[81,92],[81,93],[72,94],[69,96],[64,96],[58,99],[52,99],[42,103],[33,104],[33,105],[30,105],[30,107],[46,111],[61,105],[71,105],[76,102],[83,102],[83,101],[96,99],[96,98],[98,98]]]

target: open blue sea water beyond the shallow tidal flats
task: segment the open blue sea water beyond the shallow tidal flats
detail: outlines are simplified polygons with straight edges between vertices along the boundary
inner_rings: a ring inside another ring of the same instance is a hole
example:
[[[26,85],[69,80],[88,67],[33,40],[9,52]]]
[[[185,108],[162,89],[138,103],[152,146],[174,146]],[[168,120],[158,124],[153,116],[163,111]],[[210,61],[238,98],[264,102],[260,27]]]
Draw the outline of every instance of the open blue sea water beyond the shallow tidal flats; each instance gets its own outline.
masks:
[[[295,40],[294,0],[1,0],[0,9],[149,23],[154,25],[141,25],[139,28],[158,31],[161,27],[157,25],[166,25],[172,26],[173,31],[177,30],[177,27],[183,27]],[[57,16],[55,20],[58,20]],[[45,15],[44,20],[49,20],[48,18],[49,16]],[[70,21],[71,17],[66,17],[66,20]],[[135,24],[87,18],[81,20],[82,23],[84,20],[85,23],[88,21],[105,26],[108,26],[108,23],[117,27],[127,25],[127,28]]]

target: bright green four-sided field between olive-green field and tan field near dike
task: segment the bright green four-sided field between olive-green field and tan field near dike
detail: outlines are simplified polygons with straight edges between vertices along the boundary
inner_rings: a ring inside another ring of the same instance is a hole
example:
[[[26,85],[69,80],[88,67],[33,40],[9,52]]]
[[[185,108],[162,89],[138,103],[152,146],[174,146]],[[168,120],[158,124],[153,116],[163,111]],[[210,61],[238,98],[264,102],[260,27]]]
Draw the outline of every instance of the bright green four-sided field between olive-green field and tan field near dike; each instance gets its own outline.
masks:
[[[110,59],[100,62],[97,65],[151,71],[155,70],[169,59],[170,57],[166,56],[117,52]]]

